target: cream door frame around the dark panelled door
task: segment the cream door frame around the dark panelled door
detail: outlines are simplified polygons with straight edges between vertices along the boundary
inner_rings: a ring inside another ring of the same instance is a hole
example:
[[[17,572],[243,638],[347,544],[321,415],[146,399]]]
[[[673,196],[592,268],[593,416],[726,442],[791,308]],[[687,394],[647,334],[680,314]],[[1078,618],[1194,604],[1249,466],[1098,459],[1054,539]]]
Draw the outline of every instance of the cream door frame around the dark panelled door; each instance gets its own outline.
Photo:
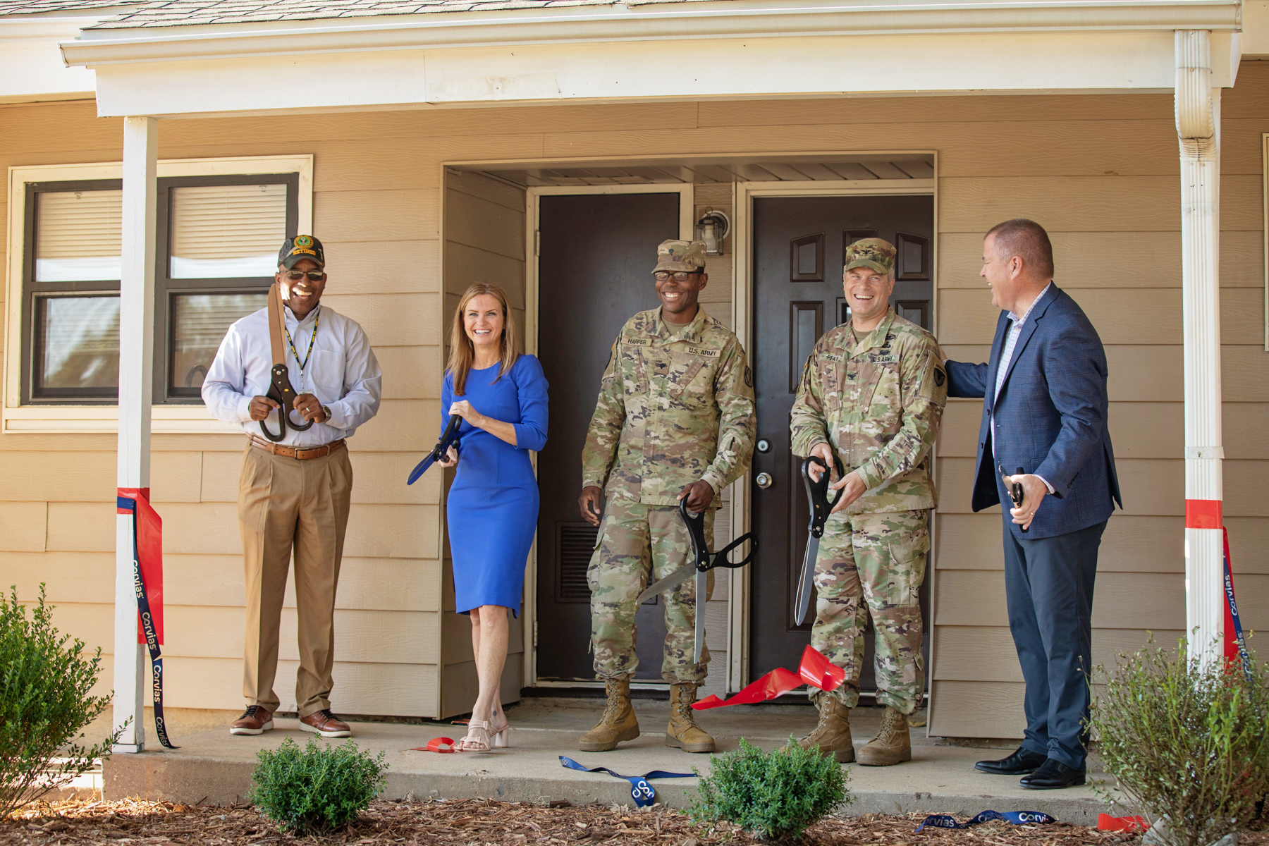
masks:
[[[938,156],[934,156],[934,176],[930,179],[867,179],[867,180],[841,180],[841,181],[780,181],[780,183],[736,183],[735,203],[735,284],[732,288],[732,315],[736,337],[741,346],[753,350],[754,344],[754,199],[760,197],[848,197],[848,195],[877,195],[877,194],[915,194],[934,197],[934,260],[931,263],[933,299],[930,308],[930,325],[938,334],[938,233],[939,233],[939,203],[938,203]],[[753,353],[750,353],[753,359]],[[933,467],[933,462],[931,462]],[[745,474],[732,490],[732,525],[733,533],[740,534],[750,530],[751,502],[749,473]],[[926,668],[933,677],[934,667],[934,526],[930,526],[930,562],[926,572],[930,580],[930,666]],[[749,602],[750,602],[750,567],[740,569],[732,575],[731,580],[731,638],[728,643],[727,689],[739,690],[751,680],[749,677]],[[933,690],[933,685],[931,685]]]

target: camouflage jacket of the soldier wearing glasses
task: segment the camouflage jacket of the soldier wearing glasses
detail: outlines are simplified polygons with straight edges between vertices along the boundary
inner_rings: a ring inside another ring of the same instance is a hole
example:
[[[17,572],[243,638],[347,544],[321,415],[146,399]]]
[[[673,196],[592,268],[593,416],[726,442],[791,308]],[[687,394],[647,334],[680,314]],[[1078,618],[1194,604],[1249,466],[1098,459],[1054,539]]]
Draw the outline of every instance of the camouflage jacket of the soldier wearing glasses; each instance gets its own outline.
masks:
[[[699,309],[679,329],[661,309],[622,327],[581,453],[582,487],[643,505],[678,505],[699,479],[717,493],[754,454],[754,379],[730,329]]]

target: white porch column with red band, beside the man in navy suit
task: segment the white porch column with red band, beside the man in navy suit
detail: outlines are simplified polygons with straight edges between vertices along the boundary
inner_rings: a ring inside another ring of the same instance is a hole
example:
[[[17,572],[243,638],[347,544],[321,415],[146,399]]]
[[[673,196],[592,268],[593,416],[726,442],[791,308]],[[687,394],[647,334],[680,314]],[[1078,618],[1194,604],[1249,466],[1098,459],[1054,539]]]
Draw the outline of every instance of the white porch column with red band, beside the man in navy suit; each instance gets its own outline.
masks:
[[[1181,157],[1181,299],[1185,364],[1185,628],[1189,653],[1221,654],[1221,90],[1209,33],[1176,30],[1176,133]],[[1216,648],[1213,649],[1213,644]]]

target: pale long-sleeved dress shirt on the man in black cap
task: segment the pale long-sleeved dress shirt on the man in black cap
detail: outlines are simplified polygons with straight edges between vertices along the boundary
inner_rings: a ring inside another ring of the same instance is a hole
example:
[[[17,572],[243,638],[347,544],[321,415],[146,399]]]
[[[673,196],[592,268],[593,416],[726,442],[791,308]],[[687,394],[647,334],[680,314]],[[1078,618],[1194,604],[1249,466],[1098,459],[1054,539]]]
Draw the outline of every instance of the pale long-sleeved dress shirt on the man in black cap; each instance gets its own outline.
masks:
[[[319,306],[297,321],[291,308],[286,313],[287,331],[296,350],[283,337],[287,369],[296,393],[312,393],[330,408],[330,420],[315,422],[306,431],[296,431],[289,425],[279,444],[286,446],[320,446],[340,438],[350,438],[357,427],[379,410],[383,374],[371,349],[371,341],[357,321],[338,315],[329,306]],[[316,326],[316,336],[313,327]],[[312,340],[312,353],[307,353]],[[296,351],[308,360],[303,372]],[[273,368],[273,348],[269,344],[268,308],[247,315],[230,326],[216,360],[203,379],[203,402],[217,420],[239,424],[242,431],[260,435],[260,424],[251,420],[247,410],[251,397],[269,392],[269,370]],[[303,422],[298,411],[291,410],[291,420]],[[278,431],[278,415],[265,419],[269,431]]]

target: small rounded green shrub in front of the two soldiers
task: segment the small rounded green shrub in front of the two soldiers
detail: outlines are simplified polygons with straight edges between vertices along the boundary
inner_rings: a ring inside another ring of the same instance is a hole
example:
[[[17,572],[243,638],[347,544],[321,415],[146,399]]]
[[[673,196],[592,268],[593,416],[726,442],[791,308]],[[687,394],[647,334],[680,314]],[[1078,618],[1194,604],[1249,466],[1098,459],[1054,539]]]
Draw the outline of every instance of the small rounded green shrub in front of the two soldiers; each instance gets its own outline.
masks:
[[[759,837],[782,840],[851,802],[841,765],[817,747],[803,750],[792,737],[786,750],[774,752],[741,738],[739,750],[714,757],[709,766],[692,803],[697,823],[726,819]]]

